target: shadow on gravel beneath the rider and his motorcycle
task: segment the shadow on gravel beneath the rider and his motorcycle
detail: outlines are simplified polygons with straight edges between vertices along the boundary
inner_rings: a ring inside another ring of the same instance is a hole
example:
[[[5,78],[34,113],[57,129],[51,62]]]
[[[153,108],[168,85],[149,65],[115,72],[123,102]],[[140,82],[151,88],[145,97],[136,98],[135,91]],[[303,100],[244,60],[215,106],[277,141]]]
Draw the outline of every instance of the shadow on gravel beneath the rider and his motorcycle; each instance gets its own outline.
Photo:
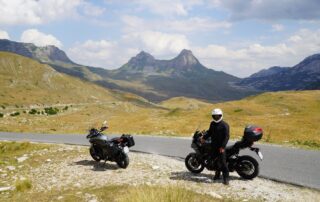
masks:
[[[222,183],[221,180],[213,180],[213,174],[194,174],[190,173],[188,171],[181,171],[181,172],[171,172],[170,179],[171,180],[185,180],[185,181],[191,181],[191,182],[200,182],[200,183]],[[230,181],[232,180],[242,180],[245,181],[244,179],[240,177],[235,177],[235,176],[230,176]]]

